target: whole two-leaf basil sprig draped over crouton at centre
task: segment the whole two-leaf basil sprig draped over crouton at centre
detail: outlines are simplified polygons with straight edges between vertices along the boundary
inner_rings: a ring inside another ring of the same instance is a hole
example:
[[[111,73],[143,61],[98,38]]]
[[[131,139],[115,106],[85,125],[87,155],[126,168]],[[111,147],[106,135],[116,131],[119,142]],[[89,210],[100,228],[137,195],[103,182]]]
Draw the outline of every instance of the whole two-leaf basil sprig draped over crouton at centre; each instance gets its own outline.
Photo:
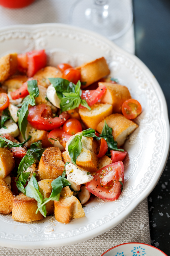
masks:
[[[91,129],[91,128],[82,131],[82,133],[80,133],[79,135],[74,136],[73,139],[68,144],[68,152],[69,152],[72,163],[75,164],[75,165],[76,165],[76,159],[82,151],[82,141],[81,141],[82,136],[84,136],[84,137],[94,137],[97,140],[101,139],[101,138],[96,136],[95,130]]]

